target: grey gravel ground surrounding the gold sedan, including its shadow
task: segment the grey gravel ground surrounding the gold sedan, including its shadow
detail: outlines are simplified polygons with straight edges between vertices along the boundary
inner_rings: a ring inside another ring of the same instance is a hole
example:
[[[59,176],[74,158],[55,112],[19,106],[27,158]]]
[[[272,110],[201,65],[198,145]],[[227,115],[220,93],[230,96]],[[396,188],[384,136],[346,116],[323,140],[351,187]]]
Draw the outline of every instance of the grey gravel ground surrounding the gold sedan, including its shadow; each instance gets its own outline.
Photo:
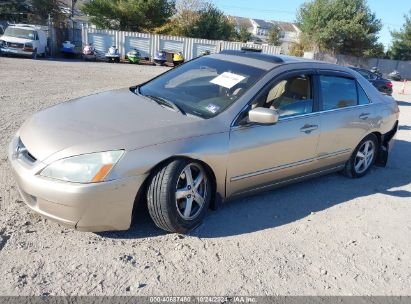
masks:
[[[190,235],[141,212],[82,233],[29,211],[7,144],[32,113],[164,68],[0,58],[0,295],[411,295],[411,86],[387,168],[232,201]],[[395,84],[398,92],[401,84]]]

